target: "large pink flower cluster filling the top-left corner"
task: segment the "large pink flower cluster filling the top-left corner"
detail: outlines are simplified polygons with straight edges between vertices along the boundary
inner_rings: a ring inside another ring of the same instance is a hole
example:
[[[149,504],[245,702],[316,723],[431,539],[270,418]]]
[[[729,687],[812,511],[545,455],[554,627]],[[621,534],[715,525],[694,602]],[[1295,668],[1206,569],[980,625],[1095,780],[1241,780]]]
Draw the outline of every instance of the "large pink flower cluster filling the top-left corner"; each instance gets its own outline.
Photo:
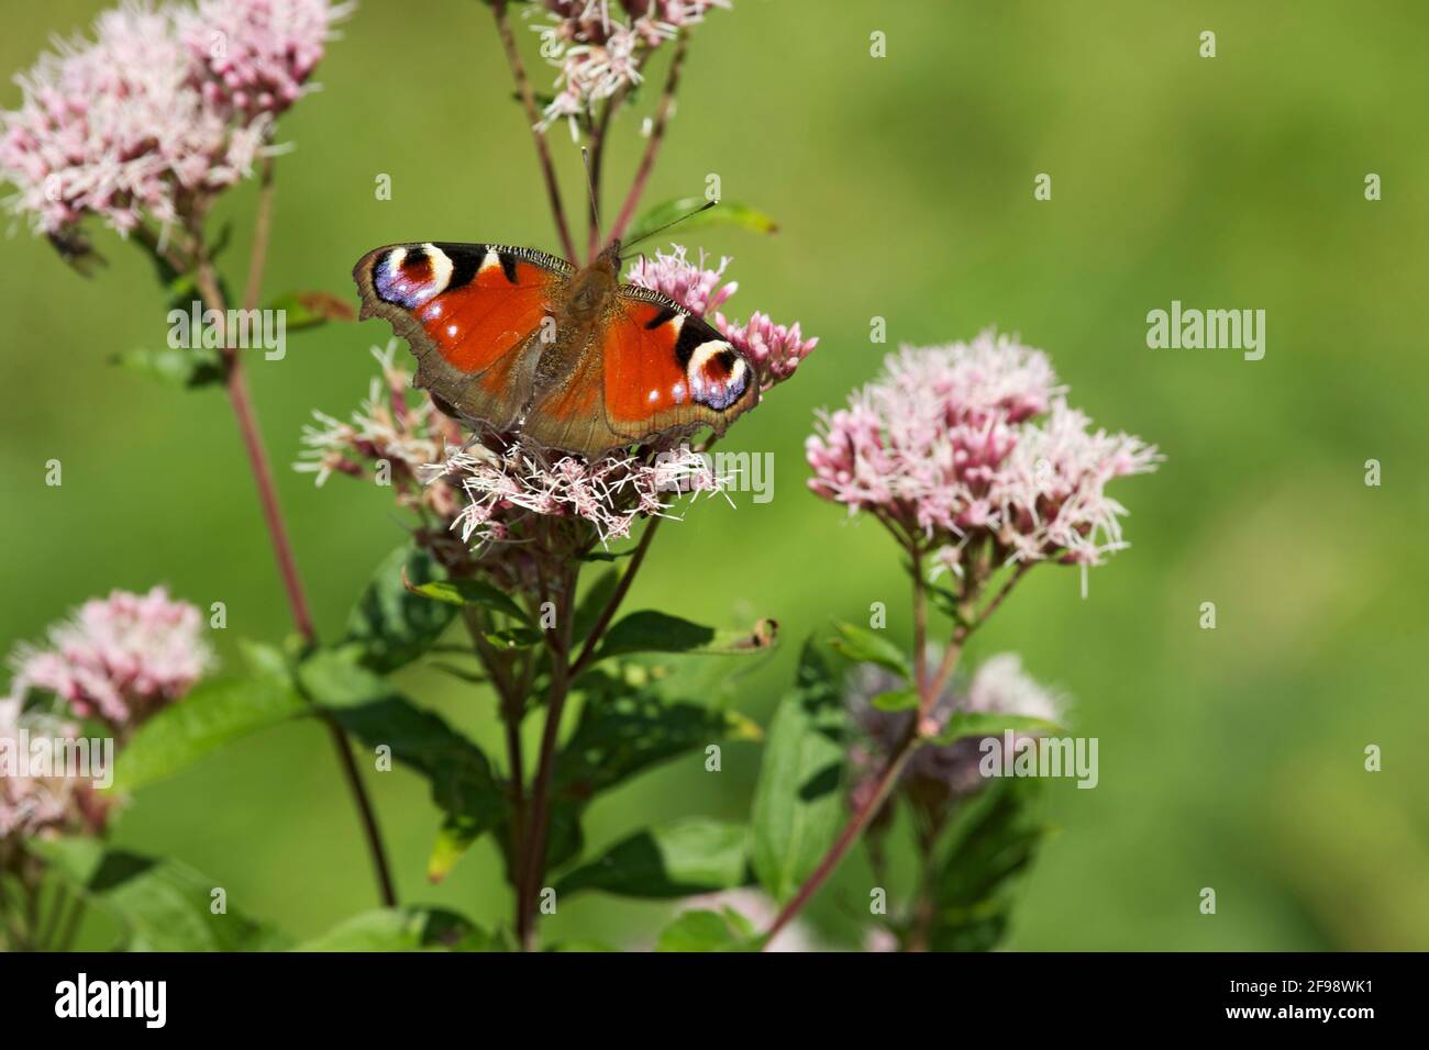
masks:
[[[327,0],[126,0],[94,39],[61,41],[16,77],[0,111],[0,176],[16,214],[59,234],[86,214],[120,233],[144,214],[173,223],[186,201],[237,183],[322,56]]]

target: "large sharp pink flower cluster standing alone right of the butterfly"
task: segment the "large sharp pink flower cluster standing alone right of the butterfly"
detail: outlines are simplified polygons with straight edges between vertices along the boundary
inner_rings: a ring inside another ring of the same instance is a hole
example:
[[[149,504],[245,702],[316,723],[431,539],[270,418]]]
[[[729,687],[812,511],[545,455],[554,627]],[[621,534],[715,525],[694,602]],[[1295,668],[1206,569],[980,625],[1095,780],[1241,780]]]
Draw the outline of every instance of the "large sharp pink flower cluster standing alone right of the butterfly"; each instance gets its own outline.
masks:
[[[1125,546],[1126,509],[1106,483],[1162,457],[1137,437],[1092,431],[1063,393],[1046,354],[1007,336],[905,347],[846,409],[820,414],[809,486],[923,537],[955,571],[977,536],[1010,560],[1100,564]]]

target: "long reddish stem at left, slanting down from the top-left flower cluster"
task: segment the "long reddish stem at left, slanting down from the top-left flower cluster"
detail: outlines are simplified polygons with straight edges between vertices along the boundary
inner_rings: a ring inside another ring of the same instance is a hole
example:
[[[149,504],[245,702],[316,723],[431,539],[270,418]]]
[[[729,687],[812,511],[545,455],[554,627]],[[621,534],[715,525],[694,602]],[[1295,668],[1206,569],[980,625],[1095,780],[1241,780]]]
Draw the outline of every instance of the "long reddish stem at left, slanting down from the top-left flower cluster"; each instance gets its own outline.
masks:
[[[269,199],[272,197],[269,196]],[[201,229],[197,221],[194,224],[193,236],[196,244],[194,283],[199,289],[199,294],[203,297],[204,304],[210,310],[217,310],[219,316],[224,317],[226,303],[223,289],[219,286],[217,274],[213,269],[213,260],[209,259],[207,249],[203,243]],[[249,291],[252,294],[253,289]],[[243,379],[243,364],[239,359],[237,349],[229,347],[227,341],[227,336],[224,334],[224,363],[227,367],[224,387],[229,394],[229,403],[233,406],[233,416],[239,424],[239,434],[243,439],[243,449],[249,457],[249,467],[253,471],[253,480],[257,484],[259,503],[263,509],[263,520],[267,524],[269,540],[273,544],[273,554],[277,559],[279,574],[283,579],[283,589],[287,593],[289,609],[292,610],[293,623],[303,636],[303,640],[309,644],[317,644],[317,630],[313,626],[313,617],[307,607],[307,596],[303,591],[303,581],[297,573],[297,561],[293,557],[293,546],[287,537],[287,526],[283,520],[283,511],[279,507],[277,489],[273,484],[273,470],[269,466],[267,453],[263,450],[263,439],[259,433],[253,400],[249,396],[247,383]],[[324,711],[320,717],[323,724],[327,727],[327,734],[333,741],[334,750],[337,751],[337,761],[339,766],[342,766],[343,777],[347,781],[347,790],[352,793],[353,801],[357,804],[357,814],[362,820],[363,834],[367,840],[367,851],[372,856],[372,864],[377,877],[377,889],[382,896],[382,901],[387,907],[394,907],[397,903],[397,893],[393,886],[392,870],[387,866],[387,854],[383,849],[382,831],[377,826],[377,814],[376,810],[373,810],[372,799],[367,796],[367,789],[362,781],[362,773],[357,769],[357,761],[353,759],[352,750],[347,747],[347,736],[343,733],[342,726],[337,724],[337,720],[332,714]]]

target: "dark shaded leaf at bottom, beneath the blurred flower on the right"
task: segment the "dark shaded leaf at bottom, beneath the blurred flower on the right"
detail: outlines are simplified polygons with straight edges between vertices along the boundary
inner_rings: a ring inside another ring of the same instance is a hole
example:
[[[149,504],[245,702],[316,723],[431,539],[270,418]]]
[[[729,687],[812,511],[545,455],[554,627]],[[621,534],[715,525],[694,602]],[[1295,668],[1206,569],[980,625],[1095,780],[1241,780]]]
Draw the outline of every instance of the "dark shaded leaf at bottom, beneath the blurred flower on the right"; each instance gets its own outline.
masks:
[[[1033,814],[1039,787],[997,781],[950,830],[933,893],[933,951],[989,951],[1006,936],[1016,879],[1049,831]]]

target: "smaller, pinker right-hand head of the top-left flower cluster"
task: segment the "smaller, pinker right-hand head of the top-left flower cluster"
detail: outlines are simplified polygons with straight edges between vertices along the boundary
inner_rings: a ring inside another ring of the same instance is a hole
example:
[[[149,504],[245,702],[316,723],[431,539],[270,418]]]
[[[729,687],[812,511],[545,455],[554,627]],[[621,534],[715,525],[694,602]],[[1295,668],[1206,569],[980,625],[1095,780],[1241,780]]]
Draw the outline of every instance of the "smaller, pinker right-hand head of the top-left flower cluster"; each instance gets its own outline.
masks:
[[[197,0],[177,13],[179,36],[204,101],[252,120],[297,101],[333,23],[353,7],[329,0]]]

